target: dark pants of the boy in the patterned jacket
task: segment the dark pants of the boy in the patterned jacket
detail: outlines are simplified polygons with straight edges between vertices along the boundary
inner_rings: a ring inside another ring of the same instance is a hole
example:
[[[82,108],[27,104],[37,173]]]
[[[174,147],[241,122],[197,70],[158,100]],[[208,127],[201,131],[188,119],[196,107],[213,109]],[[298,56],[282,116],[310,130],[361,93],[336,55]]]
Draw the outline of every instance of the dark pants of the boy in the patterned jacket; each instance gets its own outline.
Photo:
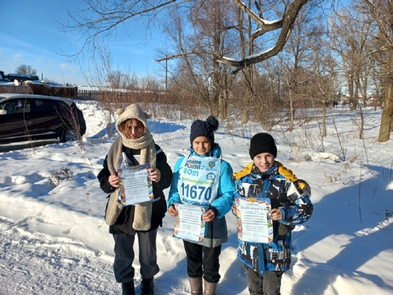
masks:
[[[281,277],[283,271],[266,271],[260,275],[252,268],[243,265],[246,269],[250,295],[280,295]]]

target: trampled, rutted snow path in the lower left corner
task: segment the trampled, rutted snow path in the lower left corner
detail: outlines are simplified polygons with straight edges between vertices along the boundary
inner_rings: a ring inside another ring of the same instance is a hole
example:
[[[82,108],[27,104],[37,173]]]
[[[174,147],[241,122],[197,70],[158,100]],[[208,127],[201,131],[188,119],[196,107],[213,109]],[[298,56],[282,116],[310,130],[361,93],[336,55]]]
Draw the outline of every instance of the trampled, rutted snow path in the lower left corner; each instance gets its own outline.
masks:
[[[0,217],[0,294],[119,294],[108,257],[61,239]]]

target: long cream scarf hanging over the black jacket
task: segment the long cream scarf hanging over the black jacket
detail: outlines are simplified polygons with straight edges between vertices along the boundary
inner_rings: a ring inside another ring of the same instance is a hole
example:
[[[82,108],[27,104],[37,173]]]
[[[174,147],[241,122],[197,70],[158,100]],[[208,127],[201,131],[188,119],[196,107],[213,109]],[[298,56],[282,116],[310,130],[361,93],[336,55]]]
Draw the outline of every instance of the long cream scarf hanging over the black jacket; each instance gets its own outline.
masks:
[[[146,133],[138,139],[126,138],[122,133],[112,144],[108,152],[108,169],[111,174],[116,173],[116,167],[119,163],[122,147],[123,145],[127,148],[140,149],[140,163],[147,164],[150,163],[151,167],[156,167],[156,148],[153,141],[153,136],[150,131],[147,130]],[[108,225],[113,225],[117,217],[119,216],[122,207],[117,201],[118,189],[111,193],[109,198],[108,208],[106,212],[105,221]],[[145,202],[135,205],[135,214],[132,223],[132,229],[136,231],[147,231],[150,229],[150,218],[152,212],[152,203]]]

